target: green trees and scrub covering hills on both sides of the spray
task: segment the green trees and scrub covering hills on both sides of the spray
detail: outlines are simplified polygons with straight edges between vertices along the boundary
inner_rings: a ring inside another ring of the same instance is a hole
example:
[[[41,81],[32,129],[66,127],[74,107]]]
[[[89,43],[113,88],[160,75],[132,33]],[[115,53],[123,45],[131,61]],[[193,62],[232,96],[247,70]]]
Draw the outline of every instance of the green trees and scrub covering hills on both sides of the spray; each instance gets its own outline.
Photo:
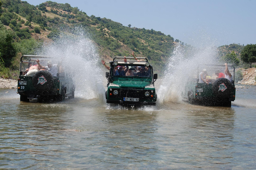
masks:
[[[84,30],[86,36],[97,44],[104,59],[130,56],[134,51],[138,57],[147,57],[158,73],[175,44],[184,45],[160,31],[132,28],[131,24],[123,26],[111,19],[88,16],[68,3],[46,1],[33,6],[21,0],[0,0],[0,6],[0,67],[10,70],[17,69],[21,55],[35,55],[44,42],[56,41],[63,34],[77,35],[77,28]],[[185,45],[187,49],[190,47]],[[219,59],[239,64],[239,67],[243,48],[244,45],[240,44],[220,46]]]

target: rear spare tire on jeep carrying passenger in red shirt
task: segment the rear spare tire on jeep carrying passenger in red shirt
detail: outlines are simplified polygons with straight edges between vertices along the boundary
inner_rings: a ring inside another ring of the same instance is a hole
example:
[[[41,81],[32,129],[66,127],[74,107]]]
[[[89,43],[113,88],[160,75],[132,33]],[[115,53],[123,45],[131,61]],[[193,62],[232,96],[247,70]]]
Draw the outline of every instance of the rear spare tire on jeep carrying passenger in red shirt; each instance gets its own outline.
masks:
[[[212,86],[213,93],[216,97],[229,97],[232,92],[231,82],[226,78],[218,78]]]

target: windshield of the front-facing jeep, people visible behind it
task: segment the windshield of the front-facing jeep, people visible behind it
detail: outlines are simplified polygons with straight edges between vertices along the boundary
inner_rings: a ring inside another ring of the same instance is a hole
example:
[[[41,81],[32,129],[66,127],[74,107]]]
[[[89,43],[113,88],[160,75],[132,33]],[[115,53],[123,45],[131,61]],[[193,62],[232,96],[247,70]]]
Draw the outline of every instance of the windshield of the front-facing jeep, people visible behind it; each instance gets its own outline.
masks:
[[[112,76],[151,77],[151,67],[119,65],[113,68]]]

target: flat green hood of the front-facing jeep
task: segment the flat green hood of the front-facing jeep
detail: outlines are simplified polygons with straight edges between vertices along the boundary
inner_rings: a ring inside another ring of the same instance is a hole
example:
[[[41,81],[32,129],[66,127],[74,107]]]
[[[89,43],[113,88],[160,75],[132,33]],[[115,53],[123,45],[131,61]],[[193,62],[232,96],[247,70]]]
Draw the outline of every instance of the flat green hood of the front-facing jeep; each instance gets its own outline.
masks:
[[[151,84],[148,81],[134,81],[134,80],[116,80],[113,84],[119,85],[119,87],[133,87],[133,88],[145,88]]]

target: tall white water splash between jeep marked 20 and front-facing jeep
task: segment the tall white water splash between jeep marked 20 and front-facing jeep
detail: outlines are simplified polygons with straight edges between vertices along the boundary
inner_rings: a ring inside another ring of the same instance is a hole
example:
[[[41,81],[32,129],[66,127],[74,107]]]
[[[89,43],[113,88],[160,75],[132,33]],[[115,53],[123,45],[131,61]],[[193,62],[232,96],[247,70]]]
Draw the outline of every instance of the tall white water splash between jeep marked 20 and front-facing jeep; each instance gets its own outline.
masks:
[[[44,45],[40,55],[53,56],[61,60],[74,75],[76,85],[75,97],[84,99],[104,99],[105,90],[102,84],[100,57],[96,46],[82,29],[75,34],[63,33],[61,38]]]

